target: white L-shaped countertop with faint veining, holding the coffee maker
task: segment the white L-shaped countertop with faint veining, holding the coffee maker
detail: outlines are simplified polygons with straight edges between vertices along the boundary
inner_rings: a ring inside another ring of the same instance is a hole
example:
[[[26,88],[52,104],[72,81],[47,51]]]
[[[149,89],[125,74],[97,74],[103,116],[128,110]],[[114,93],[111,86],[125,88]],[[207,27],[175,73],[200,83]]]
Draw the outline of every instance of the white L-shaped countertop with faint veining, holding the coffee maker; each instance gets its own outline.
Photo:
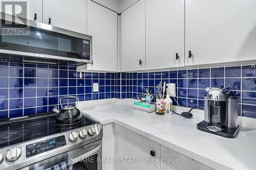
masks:
[[[78,107],[101,124],[116,123],[211,168],[256,169],[255,129],[242,127],[237,138],[224,138],[197,129],[203,120],[203,111],[195,109],[194,117],[186,119],[176,114],[134,110],[132,102],[129,99],[87,101]],[[189,109],[176,107],[174,110]]]

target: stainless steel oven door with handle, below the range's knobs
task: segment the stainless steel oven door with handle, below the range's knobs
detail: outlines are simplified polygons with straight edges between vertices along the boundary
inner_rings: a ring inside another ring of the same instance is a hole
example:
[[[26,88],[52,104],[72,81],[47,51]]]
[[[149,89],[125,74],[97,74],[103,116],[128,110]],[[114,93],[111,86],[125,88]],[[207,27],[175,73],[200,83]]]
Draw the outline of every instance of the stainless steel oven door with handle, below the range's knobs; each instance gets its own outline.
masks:
[[[39,169],[45,170],[68,159],[72,159],[73,170],[102,170],[102,163],[97,161],[97,158],[102,157],[102,140],[98,140],[74,150],[56,155],[44,161],[31,164],[22,168],[23,170]],[[35,158],[36,161],[36,158]]]

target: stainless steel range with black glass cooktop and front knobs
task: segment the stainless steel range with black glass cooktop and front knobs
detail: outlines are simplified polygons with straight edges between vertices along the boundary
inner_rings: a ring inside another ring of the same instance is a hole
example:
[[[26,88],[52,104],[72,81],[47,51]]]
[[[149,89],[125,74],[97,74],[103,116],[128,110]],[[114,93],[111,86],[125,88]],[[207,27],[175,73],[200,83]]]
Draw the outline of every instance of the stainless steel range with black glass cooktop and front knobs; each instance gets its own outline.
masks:
[[[1,121],[0,169],[46,169],[72,159],[73,169],[101,170],[102,125],[87,115],[75,126],[55,122],[55,113]]]

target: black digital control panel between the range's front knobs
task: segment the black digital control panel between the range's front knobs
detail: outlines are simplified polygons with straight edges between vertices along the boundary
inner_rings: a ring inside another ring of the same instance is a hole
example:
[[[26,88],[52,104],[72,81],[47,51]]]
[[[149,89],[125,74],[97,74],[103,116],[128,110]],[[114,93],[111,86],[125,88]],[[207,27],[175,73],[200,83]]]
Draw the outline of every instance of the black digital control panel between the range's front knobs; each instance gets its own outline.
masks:
[[[26,145],[26,158],[67,145],[65,135]]]

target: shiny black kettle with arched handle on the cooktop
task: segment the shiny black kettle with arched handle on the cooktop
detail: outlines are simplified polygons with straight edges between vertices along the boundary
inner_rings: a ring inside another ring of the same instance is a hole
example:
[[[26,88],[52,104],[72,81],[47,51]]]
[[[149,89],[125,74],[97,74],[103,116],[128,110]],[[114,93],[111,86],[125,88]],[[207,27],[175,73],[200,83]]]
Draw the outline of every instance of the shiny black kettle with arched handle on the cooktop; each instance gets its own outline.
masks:
[[[62,99],[76,99],[75,106],[64,106],[62,107],[61,100]],[[53,110],[56,115],[56,125],[59,126],[67,126],[67,125],[74,125],[81,122],[81,113],[77,109],[77,104],[79,100],[75,96],[63,96],[59,99],[59,103],[61,105],[61,109],[58,110],[57,106],[54,106]]]

